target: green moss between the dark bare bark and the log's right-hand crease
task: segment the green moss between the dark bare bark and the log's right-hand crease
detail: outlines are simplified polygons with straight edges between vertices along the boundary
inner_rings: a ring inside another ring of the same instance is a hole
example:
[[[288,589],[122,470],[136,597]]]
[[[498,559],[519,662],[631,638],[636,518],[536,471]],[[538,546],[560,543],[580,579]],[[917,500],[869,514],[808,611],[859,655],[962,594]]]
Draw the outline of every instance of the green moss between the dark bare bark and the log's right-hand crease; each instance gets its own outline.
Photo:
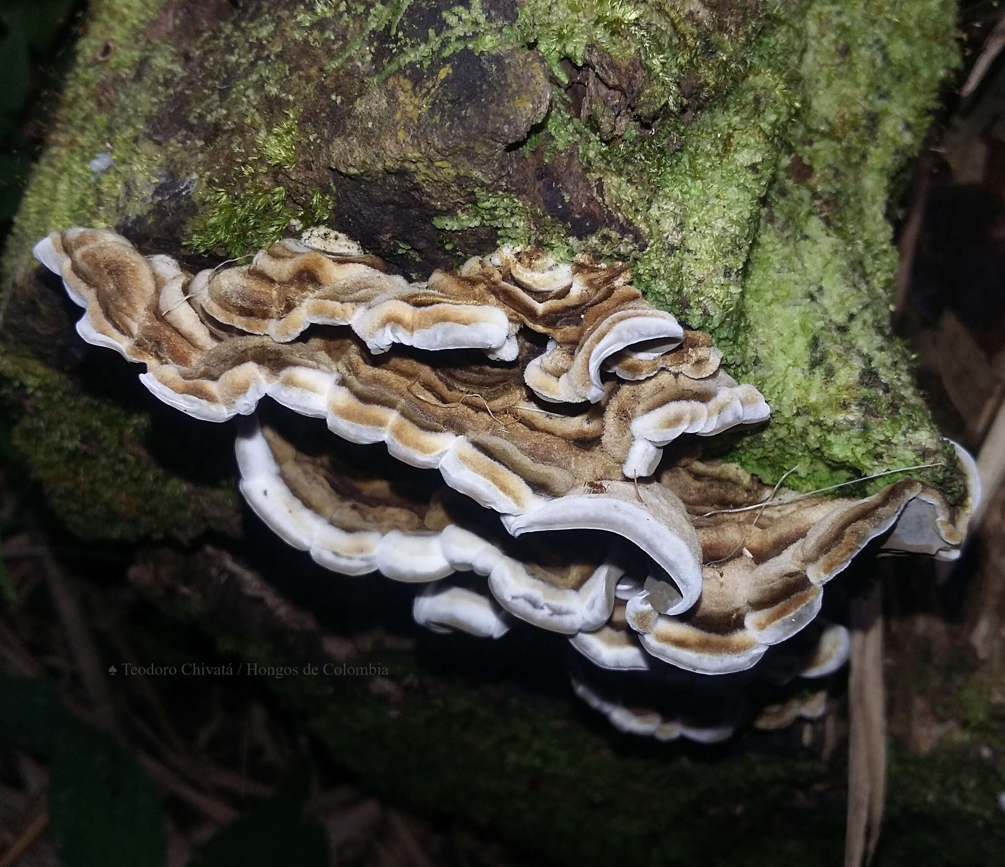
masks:
[[[459,47],[480,52],[526,45],[540,51],[563,82],[568,78],[561,62],[582,65],[592,46],[641,61],[639,111],[652,125],[635,124],[605,140],[569,113],[564,93],[557,91],[544,128],[525,145],[527,151],[544,149],[546,159],[575,148],[591,181],[603,183],[607,203],[639,230],[641,243],[610,232],[574,238],[561,221],[530,212],[516,197],[509,197],[512,213],[500,212],[485,201],[484,190],[473,205],[434,223],[450,230],[492,225],[502,230],[500,241],[533,237],[557,254],[589,249],[628,258],[637,284],[654,302],[728,344],[778,138],[795,110],[792,78],[804,38],[798,15],[767,3],[756,12],[738,12],[726,26],[715,16],[701,20],[685,5],[657,11],[621,0],[531,0],[513,25],[486,20],[477,2],[442,17],[443,29],[418,44],[403,40],[380,74]],[[673,114],[684,79],[710,104],[693,123]],[[717,103],[721,94],[727,96]]]

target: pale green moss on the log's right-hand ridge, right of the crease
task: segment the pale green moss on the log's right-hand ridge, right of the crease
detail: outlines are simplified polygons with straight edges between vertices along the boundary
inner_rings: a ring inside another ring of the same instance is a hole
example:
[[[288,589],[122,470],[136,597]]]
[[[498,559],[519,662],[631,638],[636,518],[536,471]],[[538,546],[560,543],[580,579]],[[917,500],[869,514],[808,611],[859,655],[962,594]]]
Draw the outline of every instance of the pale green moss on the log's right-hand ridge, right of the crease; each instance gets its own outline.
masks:
[[[891,179],[956,60],[954,12],[943,0],[895,12],[846,0],[807,17],[801,109],[748,262],[735,369],[768,397],[772,421],[729,457],[769,483],[796,466],[788,483],[815,488],[942,462],[915,475],[959,494],[955,456],[890,333],[886,219]]]

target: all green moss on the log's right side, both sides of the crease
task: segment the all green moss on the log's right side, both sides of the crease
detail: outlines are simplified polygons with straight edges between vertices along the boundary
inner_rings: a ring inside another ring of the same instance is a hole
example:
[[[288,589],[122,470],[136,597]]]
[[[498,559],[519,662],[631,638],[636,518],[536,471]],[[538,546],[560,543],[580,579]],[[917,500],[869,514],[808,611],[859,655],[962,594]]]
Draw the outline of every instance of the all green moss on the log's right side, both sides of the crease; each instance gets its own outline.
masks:
[[[643,242],[574,238],[514,197],[484,191],[435,222],[492,225],[500,241],[535,241],[560,256],[586,248],[627,258],[650,300],[712,332],[731,372],[768,398],[769,424],[718,445],[765,481],[796,468],[789,482],[808,490],[940,464],[913,475],[959,500],[955,455],[890,333],[895,253],[886,218],[891,179],[917,151],[956,61],[955,7],[844,0],[800,8],[764,4],[721,34],[710,60],[699,47],[711,44],[707,34],[676,7],[659,18],[641,3],[525,4],[510,34],[536,45],[559,81],[561,61],[581,65],[593,45],[641,59],[646,80],[664,85],[652,127],[629,126],[616,139],[574,117],[558,91],[525,145],[546,160],[575,149]],[[685,74],[700,82],[706,104],[687,123],[666,111]]]

